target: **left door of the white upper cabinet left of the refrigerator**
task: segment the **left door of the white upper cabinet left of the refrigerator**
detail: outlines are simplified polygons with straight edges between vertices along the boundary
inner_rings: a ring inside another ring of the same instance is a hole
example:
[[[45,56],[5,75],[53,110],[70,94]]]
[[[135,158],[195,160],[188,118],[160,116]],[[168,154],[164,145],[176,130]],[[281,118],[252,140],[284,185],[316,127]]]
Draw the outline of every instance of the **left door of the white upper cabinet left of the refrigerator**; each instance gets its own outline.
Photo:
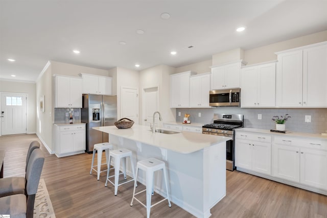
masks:
[[[69,100],[69,77],[56,76],[56,106],[71,107]]]

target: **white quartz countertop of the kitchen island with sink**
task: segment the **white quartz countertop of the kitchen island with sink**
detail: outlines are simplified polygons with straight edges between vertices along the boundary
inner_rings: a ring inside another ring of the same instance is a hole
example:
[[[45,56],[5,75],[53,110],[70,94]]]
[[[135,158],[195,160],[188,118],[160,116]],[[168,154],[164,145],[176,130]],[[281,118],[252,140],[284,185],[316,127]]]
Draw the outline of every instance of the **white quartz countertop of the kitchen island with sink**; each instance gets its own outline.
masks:
[[[141,125],[134,125],[130,129],[118,129],[115,126],[94,127],[93,129],[182,154],[189,154],[192,152],[200,151],[214,144],[231,139],[230,137],[207,135],[194,132],[180,132],[177,134],[153,134],[152,131],[150,131],[150,127]],[[171,129],[166,130],[172,131]]]

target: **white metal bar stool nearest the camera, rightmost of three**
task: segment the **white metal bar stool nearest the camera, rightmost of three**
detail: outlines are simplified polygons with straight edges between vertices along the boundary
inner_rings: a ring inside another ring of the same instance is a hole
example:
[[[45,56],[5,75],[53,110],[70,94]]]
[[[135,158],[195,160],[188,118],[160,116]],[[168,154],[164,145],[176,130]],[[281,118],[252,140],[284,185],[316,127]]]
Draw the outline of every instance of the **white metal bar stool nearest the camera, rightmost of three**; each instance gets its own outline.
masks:
[[[135,193],[135,187],[136,187],[136,180],[137,180],[137,173],[138,173],[138,169],[142,169],[143,171],[146,172],[146,189],[143,191],[139,191],[137,193]],[[155,171],[158,171],[159,169],[162,169],[162,171],[164,172],[164,177],[165,177],[165,184],[166,184],[166,191],[167,191],[167,198],[162,199],[161,201],[151,205],[151,195],[153,195],[153,189],[154,189],[154,177],[153,177],[153,173]],[[144,205],[141,201],[139,201],[135,196],[138,195],[139,193],[142,193],[146,191],[146,200],[147,200],[147,205]],[[134,181],[134,190],[133,190],[133,198],[132,198],[132,202],[131,202],[131,206],[133,206],[133,200],[138,201],[139,203],[141,203],[144,207],[147,208],[147,218],[150,217],[150,209],[151,207],[165,201],[168,200],[168,206],[172,207],[172,205],[170,204],[170,200],[169,200],[169,194],[168,194],[168,183],[167,183],[167,173],[166,173],[166,165],[165,162],[155,159],[155,158],[149,158],[146,160],[141,160],[138,161],[136,164],[136,175],[135,175],[135,181]]]

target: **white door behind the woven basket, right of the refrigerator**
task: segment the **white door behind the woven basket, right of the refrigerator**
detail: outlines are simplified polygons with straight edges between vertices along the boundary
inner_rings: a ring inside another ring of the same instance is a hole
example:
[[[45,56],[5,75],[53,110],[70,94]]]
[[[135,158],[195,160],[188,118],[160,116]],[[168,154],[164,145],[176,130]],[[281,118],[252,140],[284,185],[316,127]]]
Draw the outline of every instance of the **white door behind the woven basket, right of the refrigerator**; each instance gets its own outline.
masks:
[[[122,87],[122,117],[129,118],[138,124],[138,90]]]

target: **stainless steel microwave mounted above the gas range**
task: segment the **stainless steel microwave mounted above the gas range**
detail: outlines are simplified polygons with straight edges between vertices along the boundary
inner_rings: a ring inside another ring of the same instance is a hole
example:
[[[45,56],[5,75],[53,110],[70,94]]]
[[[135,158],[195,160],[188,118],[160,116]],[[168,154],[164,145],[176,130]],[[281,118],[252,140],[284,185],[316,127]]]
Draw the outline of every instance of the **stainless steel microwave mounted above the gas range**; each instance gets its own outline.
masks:
[[[240,88],[217,89],[209,92],[210,106],[240,106]]]

